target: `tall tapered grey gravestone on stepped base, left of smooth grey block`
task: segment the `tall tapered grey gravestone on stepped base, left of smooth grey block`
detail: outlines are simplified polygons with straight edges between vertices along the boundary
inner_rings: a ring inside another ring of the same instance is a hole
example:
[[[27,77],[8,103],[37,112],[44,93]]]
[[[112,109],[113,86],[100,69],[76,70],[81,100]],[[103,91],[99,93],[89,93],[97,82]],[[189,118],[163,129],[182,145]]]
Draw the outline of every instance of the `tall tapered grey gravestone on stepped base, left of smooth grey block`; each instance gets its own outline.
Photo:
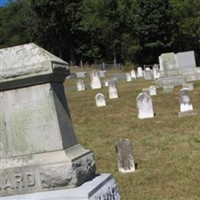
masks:
[[[177,86],[185,83],[185,78],[177,64],[174,53],[159,56],[160,77],[156,80],[157,87]]]

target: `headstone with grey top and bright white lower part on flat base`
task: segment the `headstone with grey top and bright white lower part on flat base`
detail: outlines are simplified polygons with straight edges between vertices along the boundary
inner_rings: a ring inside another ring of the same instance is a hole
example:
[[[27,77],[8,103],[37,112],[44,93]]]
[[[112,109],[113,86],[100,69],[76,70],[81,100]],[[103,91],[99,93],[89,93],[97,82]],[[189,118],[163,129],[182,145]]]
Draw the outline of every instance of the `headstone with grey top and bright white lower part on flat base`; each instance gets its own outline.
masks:
[[[196,115],[193,111],[191,98],[187,89],[181,89],[179,92],[180,112],[179,116]]]

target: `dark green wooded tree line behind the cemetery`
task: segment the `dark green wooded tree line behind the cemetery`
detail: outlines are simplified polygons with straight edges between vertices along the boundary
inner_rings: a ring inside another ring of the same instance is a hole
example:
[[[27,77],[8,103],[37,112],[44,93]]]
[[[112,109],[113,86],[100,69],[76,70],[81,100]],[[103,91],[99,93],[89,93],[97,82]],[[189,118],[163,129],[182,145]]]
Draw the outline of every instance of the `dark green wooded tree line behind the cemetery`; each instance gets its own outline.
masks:
[[[200,64],[200,1],[10,1],[0,8],[0,48],[29,42],[77,64],[153,64],[188,50]]]

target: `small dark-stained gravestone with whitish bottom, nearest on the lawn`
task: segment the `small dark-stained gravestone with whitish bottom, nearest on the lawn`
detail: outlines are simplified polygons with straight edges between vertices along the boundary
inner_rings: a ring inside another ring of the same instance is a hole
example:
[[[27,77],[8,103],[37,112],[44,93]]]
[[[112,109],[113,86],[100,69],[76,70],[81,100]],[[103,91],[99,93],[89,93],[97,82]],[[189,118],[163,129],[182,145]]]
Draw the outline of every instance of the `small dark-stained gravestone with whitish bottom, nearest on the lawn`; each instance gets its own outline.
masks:
[[[118,170],[122,173],[134,172],[135,162],[133,158],[132,143],[128,139],[120,139],[115,143]]]

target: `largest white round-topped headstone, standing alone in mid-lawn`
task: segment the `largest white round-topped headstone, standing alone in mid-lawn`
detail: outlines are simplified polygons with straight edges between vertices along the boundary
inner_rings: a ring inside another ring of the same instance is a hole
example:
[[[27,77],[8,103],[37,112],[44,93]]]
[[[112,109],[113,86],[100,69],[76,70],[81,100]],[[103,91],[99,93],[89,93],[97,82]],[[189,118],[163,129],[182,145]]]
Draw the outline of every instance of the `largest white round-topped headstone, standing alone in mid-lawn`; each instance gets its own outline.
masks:
[[[136,102],[139,119],[154,117],[152,99],[146,92],[140,93],[136,98]]]

